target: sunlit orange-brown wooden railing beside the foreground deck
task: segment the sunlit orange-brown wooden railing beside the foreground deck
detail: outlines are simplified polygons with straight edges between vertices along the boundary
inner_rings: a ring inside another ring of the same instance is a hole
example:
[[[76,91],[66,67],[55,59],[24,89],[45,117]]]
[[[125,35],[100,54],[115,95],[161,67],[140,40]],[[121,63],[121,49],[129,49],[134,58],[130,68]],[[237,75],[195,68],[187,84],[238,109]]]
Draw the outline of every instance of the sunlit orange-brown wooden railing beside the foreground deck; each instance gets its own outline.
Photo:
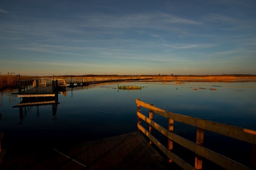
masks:
[[[175,162],[184,170],[200,170],[202,169],[202,159],[204,157],[215,164],[227,169],[227,170],[252,170],[256,169],[256,131],[245,129],[237,126],[232,126],[228,124],[222,124],[218,122],[213,122],[209,120],[204,120],[200,118],[195,118],[191,116],[186,116],[182,114],[166,112],[162,109],[154,107],[150,104],[144,103],[139,99],[136,100],[137,103],[137,115],[138,115],[138,128],[150,139],[150,143],[154,143],[157,147],[160,148],[169,158],[169,162]],[[149,117],[141,113],[141,107],[149,109]],[[168,129],[165,129],[163,126],[159,125],[153,121],[153,113],[158,113],[169,119]],[[149,131],[147,131],[142,125],[141,120],[149,123]],[[197,127],[196,131],[196,143],[187,140],[175,133],[173,133],[173,122],[181,122],[191,126]],[[161,142],[159,142],[153,136],[153,128],[157,129],[159,132],[164,134],[168,138],[168,147],[165,147]],[[244,142],[252,144],[252,169],[238,163],[230,158],[227,158],[219,153],[216,153],[208,148],[203,147],[204,140],[204,130],[212,131],[224,136],[229,136]],[[181,146],[193,151],[196,153],[195,166],[191,166],[180,157],[175,155],[172,150],[172,142],[176,142]]]

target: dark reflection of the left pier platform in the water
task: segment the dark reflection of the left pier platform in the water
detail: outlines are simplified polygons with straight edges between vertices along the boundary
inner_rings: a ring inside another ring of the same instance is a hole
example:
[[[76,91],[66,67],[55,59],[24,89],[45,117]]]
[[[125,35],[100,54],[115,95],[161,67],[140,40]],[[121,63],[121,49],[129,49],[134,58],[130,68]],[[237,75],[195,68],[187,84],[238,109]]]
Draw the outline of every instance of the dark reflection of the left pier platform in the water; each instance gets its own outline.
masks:
[[[58,108],[58,96],[55,98],[52,97],[44,97],[44,98],[23,98],[22,102],[20,102],[17,106],[13,106],[12,108],[19,108],[19,118],[20,124],[22,124],[22,119],[24,119],[28,113],[28,111],[35,106],[36,114],[39,117],[39,106],[42,105],[52,105],[52,114],[55,117]]]

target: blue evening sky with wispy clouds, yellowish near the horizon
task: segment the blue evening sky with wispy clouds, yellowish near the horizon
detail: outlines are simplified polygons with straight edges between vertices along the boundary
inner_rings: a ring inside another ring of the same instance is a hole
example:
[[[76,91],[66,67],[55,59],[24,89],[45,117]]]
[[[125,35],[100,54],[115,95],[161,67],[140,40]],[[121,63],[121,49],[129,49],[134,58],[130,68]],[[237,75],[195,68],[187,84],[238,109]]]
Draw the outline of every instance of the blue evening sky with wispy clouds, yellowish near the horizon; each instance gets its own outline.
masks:
[[[1,0],[0,72],[256,74],[256,0]]]

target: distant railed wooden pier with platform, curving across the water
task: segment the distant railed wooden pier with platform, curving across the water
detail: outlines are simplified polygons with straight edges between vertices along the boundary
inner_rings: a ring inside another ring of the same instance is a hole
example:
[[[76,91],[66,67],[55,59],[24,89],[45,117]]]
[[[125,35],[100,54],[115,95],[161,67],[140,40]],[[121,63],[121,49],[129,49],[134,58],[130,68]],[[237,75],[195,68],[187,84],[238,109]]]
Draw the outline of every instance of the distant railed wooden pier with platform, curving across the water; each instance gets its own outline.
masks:
[[[18,97],[55,97],[58,91],[67,86],[87,86],[89,84],[148,80],[153,77],[111,77],[111,78],[64,78],[57,79],[39,78],[32,80],[20,80],[18,83]]]

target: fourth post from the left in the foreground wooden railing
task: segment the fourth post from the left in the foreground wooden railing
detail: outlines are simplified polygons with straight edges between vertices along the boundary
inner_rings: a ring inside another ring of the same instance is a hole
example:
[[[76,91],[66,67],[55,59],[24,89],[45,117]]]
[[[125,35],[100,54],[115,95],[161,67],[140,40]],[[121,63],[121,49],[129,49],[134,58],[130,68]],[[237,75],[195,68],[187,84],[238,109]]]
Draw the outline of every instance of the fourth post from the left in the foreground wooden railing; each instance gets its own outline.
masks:
[[[197,127],[196,129],[196,143],[199,145],[203,145],[203,138],[204,138],[204,129]],[[202,169],[203,160],[202,157],[198,154],[195,155],[195,168],[197,170]]]

